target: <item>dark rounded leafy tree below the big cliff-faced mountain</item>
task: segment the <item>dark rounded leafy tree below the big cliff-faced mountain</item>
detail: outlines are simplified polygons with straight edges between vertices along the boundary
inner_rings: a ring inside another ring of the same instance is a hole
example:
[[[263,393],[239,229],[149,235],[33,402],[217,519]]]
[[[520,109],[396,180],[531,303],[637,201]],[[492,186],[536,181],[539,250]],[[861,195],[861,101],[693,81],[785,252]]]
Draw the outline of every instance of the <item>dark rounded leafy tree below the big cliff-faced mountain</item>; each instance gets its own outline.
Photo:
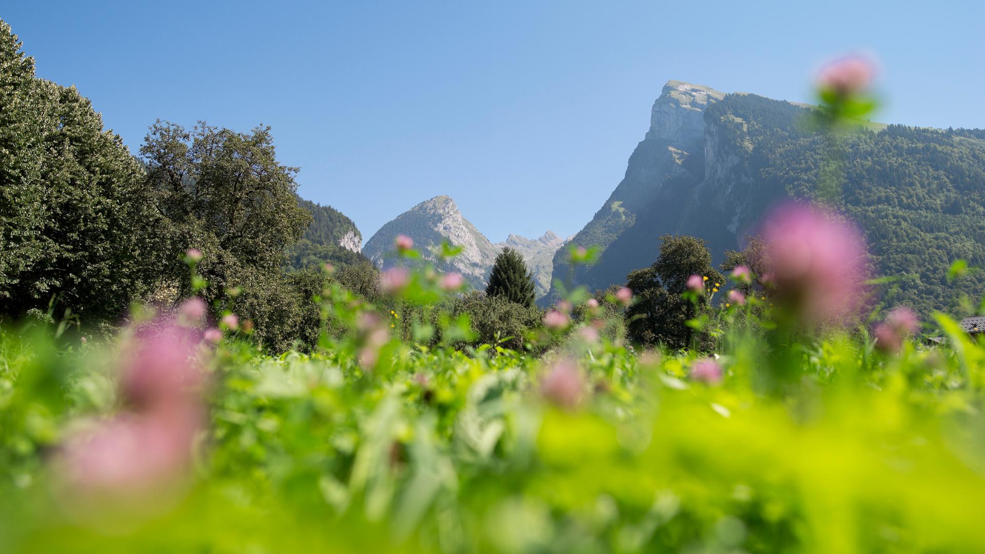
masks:
[[[691,275],[707,277],[709,288],[715,283],[723,285],[724,277],[711,267],[711,252],[704,241],[670,235],[660,239],[657,261],[626,276],[626,286],[635,299],[625,312],[629,338],[645,346],[706,348],[710,337],[695,335],[688,321],[706,310],[708,297],[700,296],[695,306],[682,294]]]

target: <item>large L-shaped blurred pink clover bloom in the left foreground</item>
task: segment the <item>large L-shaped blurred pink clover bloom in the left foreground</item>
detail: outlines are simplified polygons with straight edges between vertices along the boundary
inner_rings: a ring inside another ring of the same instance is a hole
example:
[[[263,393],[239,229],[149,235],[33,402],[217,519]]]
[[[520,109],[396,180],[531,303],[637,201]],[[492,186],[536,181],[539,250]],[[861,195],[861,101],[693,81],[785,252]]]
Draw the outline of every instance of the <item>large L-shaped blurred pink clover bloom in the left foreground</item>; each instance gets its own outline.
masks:
[[[69,432],[52,459],[66,500],[159,502],[175,491],[205,421],[200,345],[200,332],[173,324],[134,333],[121,358],[126,409]]]

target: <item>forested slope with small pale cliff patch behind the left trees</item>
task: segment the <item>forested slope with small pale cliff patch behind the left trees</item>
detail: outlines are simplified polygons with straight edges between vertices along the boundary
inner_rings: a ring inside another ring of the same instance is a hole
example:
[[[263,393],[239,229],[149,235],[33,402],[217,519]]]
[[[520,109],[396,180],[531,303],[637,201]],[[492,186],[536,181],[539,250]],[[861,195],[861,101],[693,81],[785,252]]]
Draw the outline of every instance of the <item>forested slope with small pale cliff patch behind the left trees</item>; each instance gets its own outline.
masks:
[[[321,265],[353,264],[368,261],[361,254],[362,235],[353,220],[332,206],[322,206],[310,200],[297,203],[311,214],[314,221],[304,231],[301,240],[288,248],[288,265],[298,270]]]

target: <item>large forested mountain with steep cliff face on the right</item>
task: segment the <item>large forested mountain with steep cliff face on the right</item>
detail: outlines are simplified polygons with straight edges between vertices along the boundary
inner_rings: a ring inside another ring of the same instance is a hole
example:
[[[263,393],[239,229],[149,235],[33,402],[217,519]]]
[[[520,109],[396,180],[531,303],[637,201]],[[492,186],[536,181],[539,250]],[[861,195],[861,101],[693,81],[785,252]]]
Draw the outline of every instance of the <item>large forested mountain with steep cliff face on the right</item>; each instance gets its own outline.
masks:
[[[755,234],[772,205],[818,197],[819,169],[835,164],[844,178],[825,198],[865,232],[874,273],[908,276],[893,303],[926,313],[951,308],[955,293],[981,298],[982,272],[959,290],[947,272],[957,258],[985,263],[985,131],[872,124],[832,143],[808,124],[811,111],[667,83],[624,179],[572,239],[602,247],[575,283],[592,290],[623,283],[653,263],[665,234],[704,239],[720,261]],[[566,275],[558,253],[554,277]]]

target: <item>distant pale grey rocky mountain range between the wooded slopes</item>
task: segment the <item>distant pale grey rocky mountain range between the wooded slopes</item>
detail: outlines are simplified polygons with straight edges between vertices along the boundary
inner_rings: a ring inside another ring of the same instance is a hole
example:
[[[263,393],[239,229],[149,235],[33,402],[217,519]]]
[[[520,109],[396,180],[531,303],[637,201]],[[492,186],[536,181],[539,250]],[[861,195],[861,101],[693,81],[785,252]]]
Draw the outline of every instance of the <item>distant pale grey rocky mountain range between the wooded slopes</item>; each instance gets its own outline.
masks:
[[[552,260],[564,240],[548,231],[538,239],[510,235],[505,242],[493,244],[459,211],[455,201],[445,195],[435,196],[418,204],[379,229],[365,243],[362,253],[380,268],[393,263],[394,239],[406,235],[414,239],[422,256],[444,271],[461,273],[474,289],[485,289],[496,255],[504,246],[518,250],[534,275],[537,296],[550,289]],[[449,261],[434,254],[443,240],[462,247],[462,252]]]

